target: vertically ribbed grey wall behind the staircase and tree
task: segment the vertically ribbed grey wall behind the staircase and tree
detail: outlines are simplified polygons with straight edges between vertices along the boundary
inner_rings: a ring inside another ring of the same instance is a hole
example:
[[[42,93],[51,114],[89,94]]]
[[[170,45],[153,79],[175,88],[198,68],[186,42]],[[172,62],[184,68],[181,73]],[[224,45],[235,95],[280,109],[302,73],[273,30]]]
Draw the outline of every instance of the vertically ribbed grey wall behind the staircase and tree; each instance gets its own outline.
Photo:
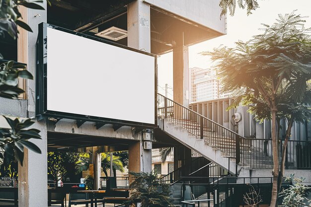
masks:
[[[204,101],[192,103],[190,108],[202,114],[203,116],[217,122],[224,127],[237,132],[238,134],[245,137],[256,137],[261,139],[271,138],[271,121],[264,120],[263,123],[256,122],[254,115],[247,112],[248,108],[245,106],[238,106],[236,109],[227,111],[227,107],[233,101],[232,98],[223,98],[218,100]],[[238,123],[234,123],[232,115],[234,113],[240,113],[242,119]],[[238,127],[234,127],[237,124]],[[280,136],[285,136],[285,130],[287,124],[285,120],[281,120],[282,130]],[[307,129],[306,129],[307,128]],[[296,122],[292,127],[291,140],[306,140],[307,136],[311,136],[311,123],[298,123]]]

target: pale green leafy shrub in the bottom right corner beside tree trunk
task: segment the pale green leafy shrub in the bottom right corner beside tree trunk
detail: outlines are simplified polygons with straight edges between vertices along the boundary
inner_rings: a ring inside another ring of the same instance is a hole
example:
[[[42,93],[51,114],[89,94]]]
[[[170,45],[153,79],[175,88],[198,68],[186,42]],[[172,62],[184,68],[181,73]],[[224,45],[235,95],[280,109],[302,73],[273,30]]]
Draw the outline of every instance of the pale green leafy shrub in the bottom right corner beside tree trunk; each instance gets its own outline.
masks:
[[[305,194],[306,191],[311,188],[302,184],[305,178],[294,178],[294,175],[295,174],[291,174],[290,177],[285,179],[285,181],[291,182],[294,185],[291,185],[288,189],[283,189],[280,193],[280,197],[284,197],[282,205],[286,207],[308,205],[304,202],[307,201],[308,203],[311,203],[311,200],[307,199]]]

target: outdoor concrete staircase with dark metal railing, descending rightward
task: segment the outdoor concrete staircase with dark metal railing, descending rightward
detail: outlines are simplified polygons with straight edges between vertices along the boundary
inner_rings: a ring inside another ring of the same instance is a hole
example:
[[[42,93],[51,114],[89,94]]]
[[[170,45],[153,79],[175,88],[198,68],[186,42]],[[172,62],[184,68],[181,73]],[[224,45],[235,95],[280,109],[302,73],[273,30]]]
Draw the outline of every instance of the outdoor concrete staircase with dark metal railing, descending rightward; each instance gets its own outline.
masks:
[[[244,138],[218,123],[157,95],[158,127],[171,138],[238,176],[241,167],[271,169],[263,141]]]

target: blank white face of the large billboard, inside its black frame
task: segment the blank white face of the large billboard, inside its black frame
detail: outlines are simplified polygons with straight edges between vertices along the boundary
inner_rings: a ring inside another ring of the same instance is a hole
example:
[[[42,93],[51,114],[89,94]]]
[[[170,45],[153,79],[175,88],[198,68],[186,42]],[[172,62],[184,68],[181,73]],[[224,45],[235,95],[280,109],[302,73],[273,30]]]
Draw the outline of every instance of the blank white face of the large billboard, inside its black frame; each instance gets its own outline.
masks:
[[[155,124],[156,57],[47,27],[46,110]]]

